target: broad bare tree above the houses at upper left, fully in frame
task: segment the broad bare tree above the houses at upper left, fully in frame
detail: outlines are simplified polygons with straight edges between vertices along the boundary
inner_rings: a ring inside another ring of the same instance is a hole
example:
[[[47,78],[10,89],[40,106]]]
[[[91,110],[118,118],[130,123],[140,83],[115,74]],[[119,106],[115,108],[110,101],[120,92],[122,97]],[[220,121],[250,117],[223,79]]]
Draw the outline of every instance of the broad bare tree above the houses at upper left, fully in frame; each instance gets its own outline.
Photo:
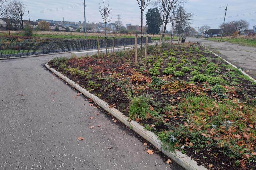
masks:
[[[17,27],[23,29],[23,18],[26,9],[26,4],[19,0],[12,0],[7,6],[7,13],[9,18],[17,21]]]

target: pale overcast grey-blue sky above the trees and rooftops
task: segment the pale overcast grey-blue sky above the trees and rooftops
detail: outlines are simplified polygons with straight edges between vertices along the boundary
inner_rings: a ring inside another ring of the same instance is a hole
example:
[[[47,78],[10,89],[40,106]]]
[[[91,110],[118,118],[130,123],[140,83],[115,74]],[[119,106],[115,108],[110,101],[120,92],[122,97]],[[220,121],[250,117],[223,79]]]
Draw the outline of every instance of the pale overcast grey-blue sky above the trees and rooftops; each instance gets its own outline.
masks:
[[[83,0],[22,0],[27,4],[27,10],[30,13],[30,19],[50,19],[55,21],[83,21]],[[107,1],[107,0],[106,0]],[[86,21],[102,22],[99,14],[99,3],[102,0],[85,0]],[[193,12],[191,27],[196,28],[202,25],[209,25],[213,29],[223,23],[225,9],[228,4],[226,22],[244,19],[250,23],[250,27],[256,25],[256,3],[255,0],[189,0],[184,4],[188,12]],[[121,15],[121,21],[124,24],[140,24],[140,9],[136,0],[109,0],[112,19],[117,20],[117,15]],[[153,8],[150,5],[148,8]],[[144,12],[144,18],[146,15]],[[28,19],[28,17],[25,17]],[[143,25],[146,24],[144,19]],[[167,25],[170,30],[170,25]]]

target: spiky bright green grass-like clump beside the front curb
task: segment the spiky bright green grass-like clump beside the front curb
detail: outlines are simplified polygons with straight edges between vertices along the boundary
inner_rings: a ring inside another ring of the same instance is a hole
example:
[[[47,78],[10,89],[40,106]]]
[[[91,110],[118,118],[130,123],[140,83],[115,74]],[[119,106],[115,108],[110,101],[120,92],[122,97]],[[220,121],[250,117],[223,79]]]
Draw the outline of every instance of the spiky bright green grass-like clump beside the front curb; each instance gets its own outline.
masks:
[[[150,98],[145,95],[133,96],[129,106],[129,118],[135,120],[139,118],[141,120],[146,119],[146,115],[149,112]]]

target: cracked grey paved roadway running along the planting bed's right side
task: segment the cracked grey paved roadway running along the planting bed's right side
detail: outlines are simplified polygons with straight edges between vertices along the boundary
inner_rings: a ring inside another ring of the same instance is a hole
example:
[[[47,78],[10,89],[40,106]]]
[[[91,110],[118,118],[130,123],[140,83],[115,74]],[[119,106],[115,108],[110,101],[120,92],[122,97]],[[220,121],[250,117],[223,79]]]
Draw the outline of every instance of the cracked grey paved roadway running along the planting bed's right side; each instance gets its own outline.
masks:
[[[187,38],[186,41],[202,43],[235,66],[243,68],[246,73],[256,79],[255,47],[233,44],[230,42],[214,42],[197,38]]]

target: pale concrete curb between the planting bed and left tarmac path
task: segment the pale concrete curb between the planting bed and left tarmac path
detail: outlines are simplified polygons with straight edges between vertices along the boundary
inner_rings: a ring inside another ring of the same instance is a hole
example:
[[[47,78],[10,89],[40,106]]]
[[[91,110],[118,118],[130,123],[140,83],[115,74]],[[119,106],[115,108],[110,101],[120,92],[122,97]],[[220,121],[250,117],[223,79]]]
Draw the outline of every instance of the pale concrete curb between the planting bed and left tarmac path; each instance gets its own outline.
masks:
[[[200,165],[200,166],[197,165],[197,162],[195,160],[193,160],[189,156],[181,153],[179,150],[175,150],[175,153],[164,150],[161,146],[161,144],[162,144],[161,141],[159,139],[157,139],[158,136],[155,135],[153,132],[151,132],[149,130],[145,130],[143,126],[141,126],[139,123],[137,123],[135,121],[130,122],[129,118],[126,117],[121,112],[119,112],[117,109],[110,108],[110,106],[106,102],[104,102],[103,100],[101,100],[97,96],[91,94],[90,92],[88,92],[87,90],[82,88],[80,85],[76,84],[74,81],[70,80],[69,78],[67,78],[66,76],[64,76],[60,72],[58,72],[57,70],[55,70],[53,68],[50,68],[50,66],[48,65],[48,62],[45,64],[45,66],[46,66],[46,68],[51,70],[53,73],[55,73],[57,76],[59,76],[61,79],[65,80],[68,84],[70,84],[71,86],[76,88],[78,91],[83,93],[86,97],[92,99],[96,104],[98,104],[104,110],[109,112],[111,115],[113,115],[116,119],[121,121],[127,127],[131,127],[141,137],[143,137],[144,139],[149,141],[157,149],[162,151],[162,153],[164,153],[165,155],[170,157],[172,160],[174,160],[177,164],[179,164],[180,166],[182,166],[186,170],[208,170],[207,168],[205,168],[202,165]]]

